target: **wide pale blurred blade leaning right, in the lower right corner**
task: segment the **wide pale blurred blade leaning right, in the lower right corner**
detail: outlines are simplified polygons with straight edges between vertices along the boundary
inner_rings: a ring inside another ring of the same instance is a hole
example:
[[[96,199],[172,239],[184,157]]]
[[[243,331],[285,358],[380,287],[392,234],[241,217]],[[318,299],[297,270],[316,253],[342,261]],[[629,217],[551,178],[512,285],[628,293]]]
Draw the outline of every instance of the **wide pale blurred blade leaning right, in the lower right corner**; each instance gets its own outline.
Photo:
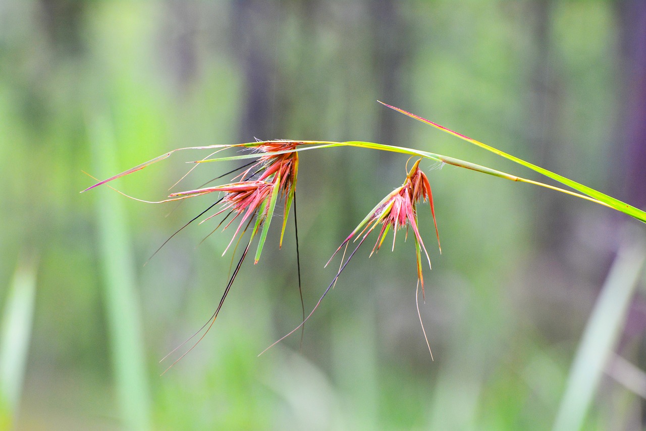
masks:
[[[583,331],[552,428],[554,431],[581,429],[623,328],[646,257],[641,231],[627,233]]]

